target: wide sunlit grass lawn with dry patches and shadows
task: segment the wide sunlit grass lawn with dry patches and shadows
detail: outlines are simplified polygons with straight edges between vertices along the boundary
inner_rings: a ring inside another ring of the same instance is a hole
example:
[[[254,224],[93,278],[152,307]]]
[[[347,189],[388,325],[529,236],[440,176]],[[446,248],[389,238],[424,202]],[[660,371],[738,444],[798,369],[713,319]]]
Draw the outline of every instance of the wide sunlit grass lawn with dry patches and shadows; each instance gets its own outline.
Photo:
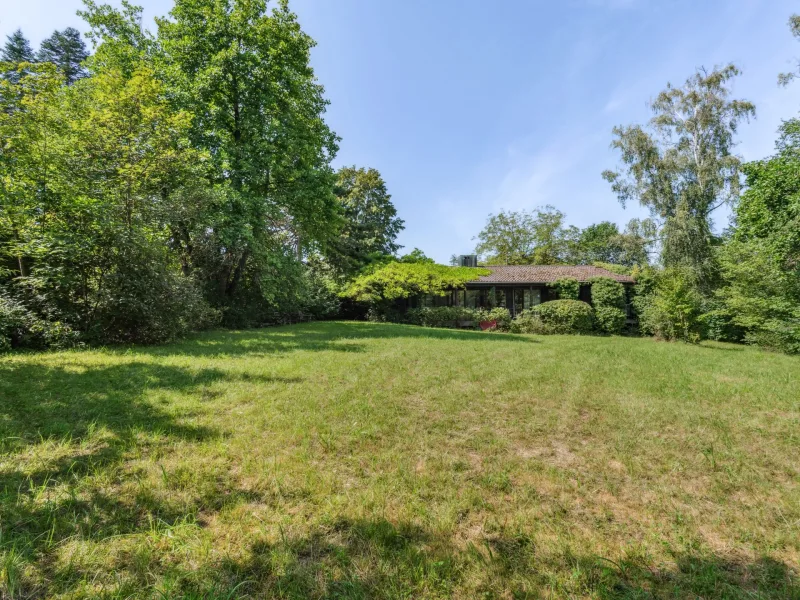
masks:
[[[369,323],[0,358],[0,597],[800,598],[800,360]]]

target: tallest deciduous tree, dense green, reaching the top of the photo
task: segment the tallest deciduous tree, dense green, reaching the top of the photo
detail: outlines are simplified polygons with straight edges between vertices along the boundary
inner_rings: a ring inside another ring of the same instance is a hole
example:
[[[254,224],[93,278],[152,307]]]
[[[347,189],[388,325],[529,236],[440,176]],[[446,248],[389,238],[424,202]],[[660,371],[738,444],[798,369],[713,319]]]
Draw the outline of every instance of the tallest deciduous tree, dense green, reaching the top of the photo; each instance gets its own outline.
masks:
[[[286,2],[270,12],[265,0],[176,0],[170,17],[157,20],[162,72],[225,191],[204,239],[184,250],[216,247],[205,265],[225,304],[243,284],[263,288],[274,252],[333,235],[337,138],[309,64],[314,42]]]

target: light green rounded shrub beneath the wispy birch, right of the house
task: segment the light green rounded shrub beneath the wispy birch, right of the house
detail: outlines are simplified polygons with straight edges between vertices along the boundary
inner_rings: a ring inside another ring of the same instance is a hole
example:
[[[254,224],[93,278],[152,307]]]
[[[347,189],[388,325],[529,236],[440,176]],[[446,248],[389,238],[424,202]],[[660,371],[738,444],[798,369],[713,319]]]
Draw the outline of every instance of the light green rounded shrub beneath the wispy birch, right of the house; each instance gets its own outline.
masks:
[[[634,306],[643,333],[665,340],[700,339],[703,298],[692,269],[671,268],[643,274],[637,288]]]

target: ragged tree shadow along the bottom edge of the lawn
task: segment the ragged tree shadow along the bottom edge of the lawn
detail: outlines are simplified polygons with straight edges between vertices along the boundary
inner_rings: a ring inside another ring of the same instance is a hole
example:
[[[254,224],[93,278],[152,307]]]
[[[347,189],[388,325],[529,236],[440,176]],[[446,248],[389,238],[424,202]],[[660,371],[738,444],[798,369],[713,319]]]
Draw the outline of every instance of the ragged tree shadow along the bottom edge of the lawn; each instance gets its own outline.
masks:
[[[305,537],[257,542],[243,560],[187,570],[170,585],[170,597],[209,599],[446,598],[464,590],[481,598],[800,598],[797,574],[768,557],[681,555],[659,571],[643,563],[556,557],[521,534],[456,546],[449,535],[385,519],[341,519]]]

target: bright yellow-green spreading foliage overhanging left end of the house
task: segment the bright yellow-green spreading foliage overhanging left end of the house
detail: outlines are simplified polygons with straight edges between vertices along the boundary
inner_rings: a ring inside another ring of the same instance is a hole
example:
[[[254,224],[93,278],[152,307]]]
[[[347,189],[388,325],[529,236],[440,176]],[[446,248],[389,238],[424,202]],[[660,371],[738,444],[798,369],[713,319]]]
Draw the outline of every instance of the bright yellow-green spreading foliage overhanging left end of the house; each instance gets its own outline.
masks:
[[[486,269],[449,267],[433,263],[392,262],[353,280],[343,295],[359,302],[383,303],[400,298],[431,294],[444,296],[463,288]]]

